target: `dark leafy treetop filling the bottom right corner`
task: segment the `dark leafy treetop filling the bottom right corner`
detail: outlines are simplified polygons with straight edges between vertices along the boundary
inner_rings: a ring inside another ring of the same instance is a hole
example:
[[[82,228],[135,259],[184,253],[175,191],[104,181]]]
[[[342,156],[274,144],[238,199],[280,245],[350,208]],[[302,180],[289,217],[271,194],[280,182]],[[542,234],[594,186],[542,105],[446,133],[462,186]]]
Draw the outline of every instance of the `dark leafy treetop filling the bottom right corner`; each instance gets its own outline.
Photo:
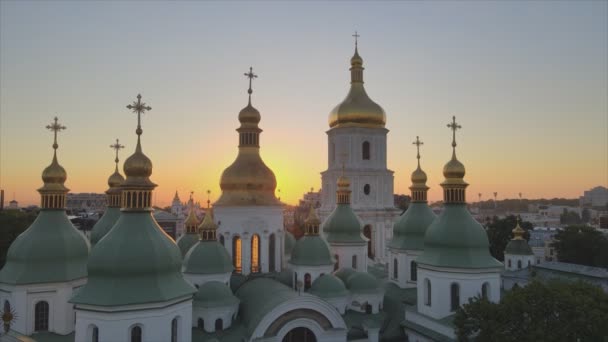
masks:
[[[469,299],[454,317],[459,341],[606,341],[608,294],[583,282],[533,281],[500,303]]]

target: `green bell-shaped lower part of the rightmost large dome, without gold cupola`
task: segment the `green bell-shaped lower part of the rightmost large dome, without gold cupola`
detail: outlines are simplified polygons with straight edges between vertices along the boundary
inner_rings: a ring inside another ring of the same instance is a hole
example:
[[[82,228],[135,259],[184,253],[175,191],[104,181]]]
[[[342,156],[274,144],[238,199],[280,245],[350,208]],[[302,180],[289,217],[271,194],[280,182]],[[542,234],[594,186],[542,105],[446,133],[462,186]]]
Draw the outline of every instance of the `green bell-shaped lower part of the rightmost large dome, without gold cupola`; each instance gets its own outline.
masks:
[[[439,267],[489,268],[503,265],[490,255],[486,231],[465,204],[445,204],[424,237],[419,264]]]

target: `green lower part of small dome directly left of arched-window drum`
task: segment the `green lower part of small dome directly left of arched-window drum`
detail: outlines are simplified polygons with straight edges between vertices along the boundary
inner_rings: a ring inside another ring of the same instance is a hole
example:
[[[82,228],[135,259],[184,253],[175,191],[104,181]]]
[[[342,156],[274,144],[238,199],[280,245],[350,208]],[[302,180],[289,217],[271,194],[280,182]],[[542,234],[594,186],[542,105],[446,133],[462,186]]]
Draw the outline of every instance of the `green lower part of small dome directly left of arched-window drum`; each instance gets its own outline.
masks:
[[[184,273],[221,274],[233,270],[230,254],[217,240],[197,242],[184,257]]]

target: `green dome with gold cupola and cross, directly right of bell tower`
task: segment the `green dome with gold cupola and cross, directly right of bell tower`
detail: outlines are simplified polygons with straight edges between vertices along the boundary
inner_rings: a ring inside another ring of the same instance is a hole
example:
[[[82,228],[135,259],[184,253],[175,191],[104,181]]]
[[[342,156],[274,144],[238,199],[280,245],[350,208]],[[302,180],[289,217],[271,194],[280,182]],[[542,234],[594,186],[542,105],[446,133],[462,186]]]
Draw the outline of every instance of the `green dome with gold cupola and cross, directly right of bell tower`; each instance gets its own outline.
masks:
[[[419,137],[416,137],[414,145],[417,148],[418,167],[412,173],[412,186],[410,186],[412,203],[393,226],[393,238],[388,245],[392,249],[422,250],[426,229],[437,217],[426,201],[429,187],[426,186],[426,173],[420,168],[420,145],[422,145],[422,142]]]

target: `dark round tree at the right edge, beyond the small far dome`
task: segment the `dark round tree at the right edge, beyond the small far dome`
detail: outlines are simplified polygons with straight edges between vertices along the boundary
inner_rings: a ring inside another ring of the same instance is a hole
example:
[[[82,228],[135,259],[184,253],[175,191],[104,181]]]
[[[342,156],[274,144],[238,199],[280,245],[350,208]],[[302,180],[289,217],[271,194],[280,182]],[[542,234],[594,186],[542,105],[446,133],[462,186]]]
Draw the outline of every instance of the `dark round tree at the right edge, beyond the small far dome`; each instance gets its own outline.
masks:
[[[568,226],[553,238],[559,261],[608,267],[608,238],[600,231],[584,225]]]

